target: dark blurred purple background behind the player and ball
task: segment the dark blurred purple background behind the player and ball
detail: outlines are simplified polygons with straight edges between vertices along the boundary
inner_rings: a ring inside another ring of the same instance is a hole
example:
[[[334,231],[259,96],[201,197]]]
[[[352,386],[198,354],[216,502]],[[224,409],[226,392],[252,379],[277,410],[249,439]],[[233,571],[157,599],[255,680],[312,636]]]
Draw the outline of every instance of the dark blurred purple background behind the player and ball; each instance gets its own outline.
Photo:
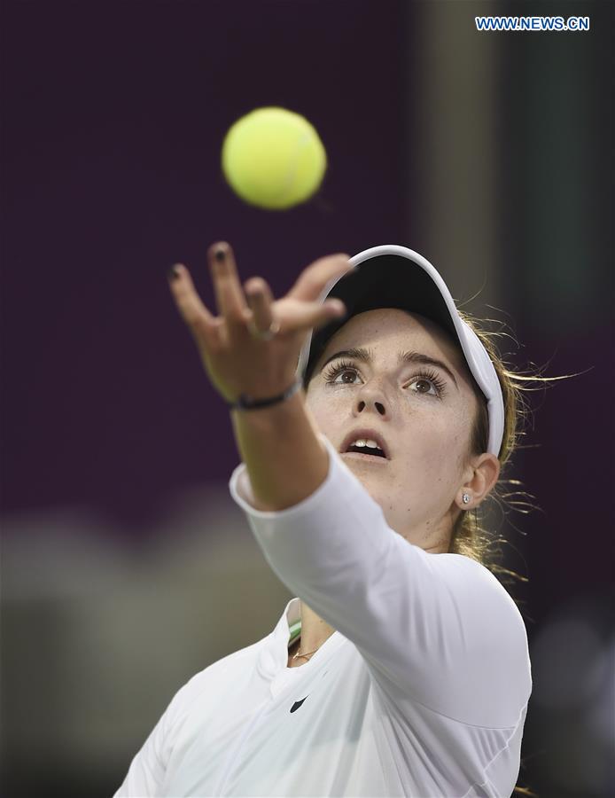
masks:
[[[479,33],[477,14],[587,15]],[[3,794],[113,794],[173,694],[289,596],[228,493],[230,418],[177,315],[206,249],[283,295],[323,254],[401,244],[511,337],[530,394],[496,520],[533,663],[519,784],[615,789],[613,4],[2,4]],[[258,106],[318,130],[314,200],[224,183]],[[496,327],[497,328],[497,327]],[[536,387],[535,385],[533,387]],[[246,578],[247,577],[247,578]]]

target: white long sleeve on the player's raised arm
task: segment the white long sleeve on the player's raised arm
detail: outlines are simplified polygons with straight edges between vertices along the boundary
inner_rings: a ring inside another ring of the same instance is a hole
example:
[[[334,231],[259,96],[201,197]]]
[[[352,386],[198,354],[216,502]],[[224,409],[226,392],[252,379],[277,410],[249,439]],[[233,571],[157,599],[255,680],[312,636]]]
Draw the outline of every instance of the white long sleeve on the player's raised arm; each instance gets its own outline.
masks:
[[[428,554],[381,507],[322,433],[323,483],[279,512],[253,507],[245,464],[230,494],[278,578],[352,641],[399,706],[404,696],[466,724],[518,723],[532,689],[525,624],[486,567]]]

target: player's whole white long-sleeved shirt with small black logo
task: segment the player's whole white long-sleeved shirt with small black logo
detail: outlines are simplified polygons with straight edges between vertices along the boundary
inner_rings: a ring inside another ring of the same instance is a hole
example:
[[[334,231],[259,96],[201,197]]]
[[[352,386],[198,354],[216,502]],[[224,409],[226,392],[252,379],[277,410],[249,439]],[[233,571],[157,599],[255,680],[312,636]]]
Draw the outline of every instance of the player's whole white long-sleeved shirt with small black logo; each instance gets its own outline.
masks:
[[[394,532],[319,438],[329,471],[298,505],[254,509],[244,463],[229,482],[298,598],[175,694],[115,798],[512,793],[532,692],[518,607],[486,567]],[[300,599],[336,631],[288,668]]]

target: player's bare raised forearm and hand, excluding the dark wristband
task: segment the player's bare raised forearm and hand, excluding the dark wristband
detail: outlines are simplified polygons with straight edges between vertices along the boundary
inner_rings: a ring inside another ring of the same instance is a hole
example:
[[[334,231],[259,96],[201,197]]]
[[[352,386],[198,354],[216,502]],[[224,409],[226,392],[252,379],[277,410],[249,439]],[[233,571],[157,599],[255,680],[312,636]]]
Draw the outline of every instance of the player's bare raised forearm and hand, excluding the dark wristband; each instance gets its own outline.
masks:
[[[281,394],[295,379],[310,329],[345,311],[339,300],[321,303],[318,298],[332,278],[352,268],[346,254],[312,263],[278,301],[262,278],[251,278],[241,286],[228,244],[211,246],[208,256],[219,317],[206,309],[181,264],[174,267],[177,276],[171,280],[177,308],[197,343],[207,375],[227,402],[235,402],[242,393],[257,399]],[[273,340],[253,337],[251,325],[267,330],[273,321],[280,325]],[[260,509],[296,505],[323,482],[328,458],[302,390],[270,407],[234,410],[232,423]]]

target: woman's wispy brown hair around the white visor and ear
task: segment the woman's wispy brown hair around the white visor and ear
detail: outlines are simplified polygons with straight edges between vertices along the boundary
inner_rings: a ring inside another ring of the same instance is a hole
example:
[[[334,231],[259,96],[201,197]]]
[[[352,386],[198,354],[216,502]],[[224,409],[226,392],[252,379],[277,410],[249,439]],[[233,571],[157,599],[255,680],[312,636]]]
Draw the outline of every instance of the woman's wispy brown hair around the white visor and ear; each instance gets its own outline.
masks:
[[[459,517],[455,520],[455,525],[451,533],[448,553],[463,554],[466,557],[471,557],[471,559],[476,559],[481,565],[487,567],[496,575],[504,584],[510,584],[509,577],[518,579],[521,582],[527,582],[528,580],[525,576],[520,576],[514,571],[510,571],[508,568],[500,565],[499,560],[502,559],[502,550],[497,548],[497,544],[508,544],[509,542],[506,538],[495,537],[493,533],[489,532],[485,526],[485,519],[487,513],[494,504],[500,507],[502,516],[507,514],[506,505],[508,505],[510,509],[525,514],[531,512],[532,509],[540,509],[523,500],[523,497],[534,497],[525,491],[517,489],[519,486],[523,485],[521,481],[509,478],[504,479],[503,474],[504,472],[508,473],[513,453],[525,448],[520,442],[526,434],[525,421],[531,412],[530,405],[525,399],[525,393],[539,390],[541,385],[543,387],[549,387],[548,383],[553,380],[566,379],[569,376],[576,375],[541,377],[537,376],[539,372],[536,374],[524,374],[515,371],[512,365],[507,363],[503,356],[500,355],[496,346],[496,339],[508,335],[508,333],[487,331],[483,326],[482,320],[459,309],[457,309],[457,312],[459,316],[463,318],[463,321],[478,335],[480,342],[487,349],[491,362],[494,364],[495,372],[497,373],[500,386],[502,387],[504,431],[498,454],[498,459],[500,461],[500,476],[498,481],[478,507],[473,510],[462,510],[462,512],[460,512]],[[485,319],[485,321],[494,321],[494,319]],[[512,338],[512,336],[509,337]],[[512,340],[514,340],[514,338]],[[457,346],[459,346],[458,342],[456,343]],[[316,359],[317,358],[315,358],[314,362],[311,364],[309,372],[306,372],[303,377],[303,389],[305,391],[308,390]],[[530,387],[530,383],[538,383],[538,386]],[[479,400],[479,410],[471,429],[469,445],[470,455],[482,454],[487,451],[489,420],[487,415],[487,399],[480,390],[478,383],[475,381],[473,381],[473,387],[475,395]],[[515,600],[517,604],[522,603],[515,599],[514,596],[511,596],[511,598]],[[527,795],[529,798],[539,798],[536,793],[533,793],[527,787],[516,786],[513,792],[519,795]]]

